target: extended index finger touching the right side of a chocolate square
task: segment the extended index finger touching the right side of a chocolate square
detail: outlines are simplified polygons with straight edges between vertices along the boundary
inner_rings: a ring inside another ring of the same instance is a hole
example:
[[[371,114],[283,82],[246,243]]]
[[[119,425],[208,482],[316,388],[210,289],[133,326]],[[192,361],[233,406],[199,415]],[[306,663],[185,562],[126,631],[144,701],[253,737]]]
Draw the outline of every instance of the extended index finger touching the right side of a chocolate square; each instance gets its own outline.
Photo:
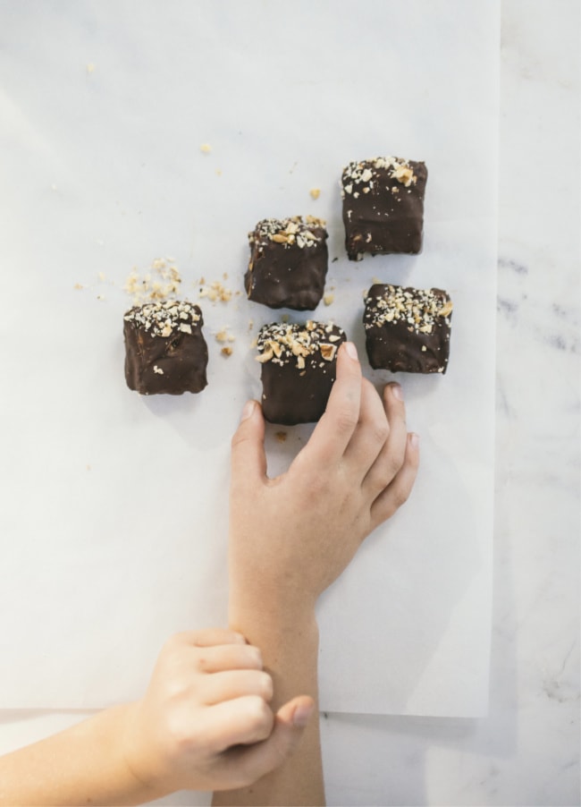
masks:
[[[305,446],[309,459],[333,463],[341,459],[357,429],[361,404],[361,365],[352,342],[337,352],[337,376],[324,415]]]

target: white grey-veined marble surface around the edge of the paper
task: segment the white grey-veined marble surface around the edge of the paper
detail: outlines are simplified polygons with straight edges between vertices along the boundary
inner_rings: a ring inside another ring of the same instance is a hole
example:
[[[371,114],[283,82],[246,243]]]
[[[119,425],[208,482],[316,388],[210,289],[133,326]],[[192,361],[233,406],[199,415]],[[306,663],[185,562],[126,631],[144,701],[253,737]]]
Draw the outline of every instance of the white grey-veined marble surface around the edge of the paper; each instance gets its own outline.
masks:
[[[490,715],[322,718],[329,804],[579,803],[579,4],[506,0],[502,43]]]

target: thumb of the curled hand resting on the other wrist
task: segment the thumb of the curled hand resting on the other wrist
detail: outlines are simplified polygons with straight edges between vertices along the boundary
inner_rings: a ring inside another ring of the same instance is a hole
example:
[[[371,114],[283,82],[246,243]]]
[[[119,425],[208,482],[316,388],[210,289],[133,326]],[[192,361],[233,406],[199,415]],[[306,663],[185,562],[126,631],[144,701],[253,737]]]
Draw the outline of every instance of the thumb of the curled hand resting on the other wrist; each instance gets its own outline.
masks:
[[[309,718],[315,709],[315,701],[307,695],[299,695],[285,703],[274,718],[274,727],[267,740],[248,748],[240,749],[245,776],[256,781],[288,760],[299,744]]]

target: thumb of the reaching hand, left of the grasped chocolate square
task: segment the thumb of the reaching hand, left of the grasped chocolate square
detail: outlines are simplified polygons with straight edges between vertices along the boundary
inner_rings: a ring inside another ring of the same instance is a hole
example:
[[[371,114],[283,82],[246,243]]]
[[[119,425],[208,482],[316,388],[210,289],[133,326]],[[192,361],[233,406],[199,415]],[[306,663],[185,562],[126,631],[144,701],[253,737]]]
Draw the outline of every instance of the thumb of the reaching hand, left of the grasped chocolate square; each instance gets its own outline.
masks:
[[[255,483],[266,476],[265,419],[257,401],[247,401],[232,437],[232,484]]]

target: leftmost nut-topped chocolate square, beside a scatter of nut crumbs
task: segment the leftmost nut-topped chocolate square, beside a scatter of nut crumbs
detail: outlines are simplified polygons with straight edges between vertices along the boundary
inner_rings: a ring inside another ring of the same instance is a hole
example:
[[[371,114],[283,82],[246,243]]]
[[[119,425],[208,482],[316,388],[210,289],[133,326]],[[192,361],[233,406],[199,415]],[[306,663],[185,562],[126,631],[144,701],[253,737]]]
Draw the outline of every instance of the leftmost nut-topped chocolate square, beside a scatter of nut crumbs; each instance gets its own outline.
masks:
[[[140,395],[198,393],[206,387],[202,311],[191,302],[148,302],[124,316],[125,380]]]

